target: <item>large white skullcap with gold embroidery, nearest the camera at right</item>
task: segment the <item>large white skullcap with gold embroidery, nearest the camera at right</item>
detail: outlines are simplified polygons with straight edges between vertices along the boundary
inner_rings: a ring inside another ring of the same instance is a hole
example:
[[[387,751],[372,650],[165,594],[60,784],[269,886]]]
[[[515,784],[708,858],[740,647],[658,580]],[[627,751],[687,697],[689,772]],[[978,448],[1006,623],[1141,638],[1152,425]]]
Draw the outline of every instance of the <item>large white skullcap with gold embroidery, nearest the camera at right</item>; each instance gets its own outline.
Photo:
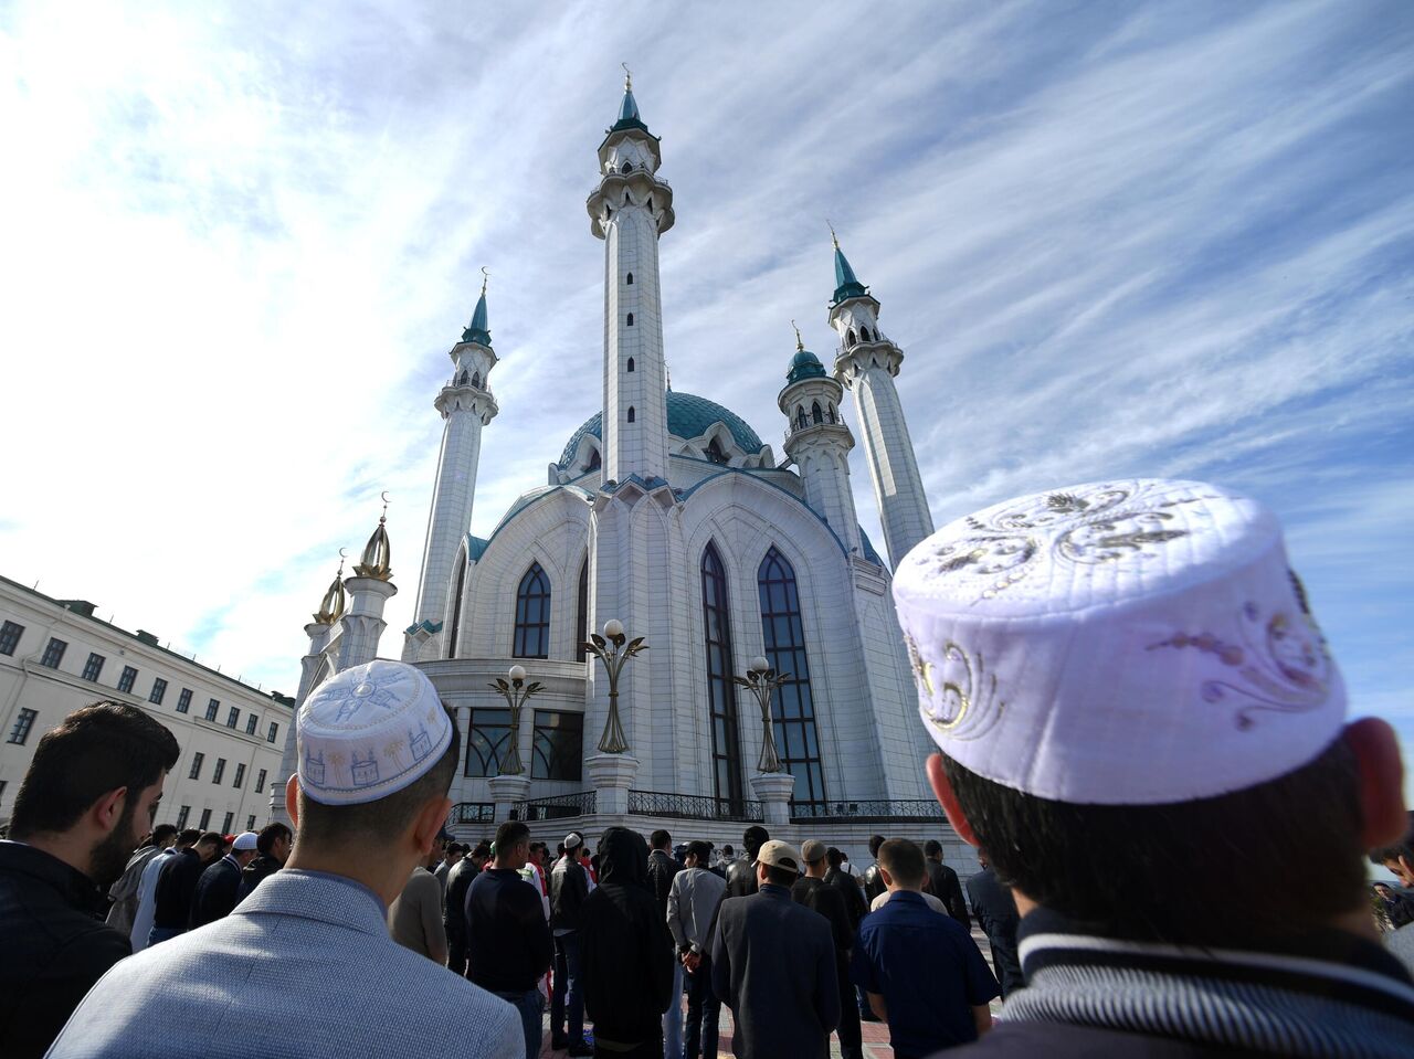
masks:
[[[1212,485],[998,503],[909,551],[894,598],[933,741],[1039,797],[1229,793],[1308,763],[1343,724],[1281,527]]]

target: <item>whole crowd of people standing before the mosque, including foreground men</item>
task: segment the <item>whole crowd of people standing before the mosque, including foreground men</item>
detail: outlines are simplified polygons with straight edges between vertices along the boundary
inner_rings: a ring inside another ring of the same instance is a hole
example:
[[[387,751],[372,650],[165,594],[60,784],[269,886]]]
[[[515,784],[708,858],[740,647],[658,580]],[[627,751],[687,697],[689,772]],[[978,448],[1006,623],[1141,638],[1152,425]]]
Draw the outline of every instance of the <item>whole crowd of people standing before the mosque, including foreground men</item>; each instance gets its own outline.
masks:
[[[455,720],[382,660],[300,708],[293,827],[154,827],[177,741],[98,703],[38,741],[0,841],[0,1055],[520,1059],[546,1001],[553,1045],[617,1059],[714,1053],[723,1005],[737,1056],[857,1055],[868,1018],[901,1059],[1414,1055],[1398,745],[1346,721],[1268,513],[1193,482],[1021,498],[894,594],[966,882],[882,836],[863,872],[761,827],[741,855],[448,843]]]

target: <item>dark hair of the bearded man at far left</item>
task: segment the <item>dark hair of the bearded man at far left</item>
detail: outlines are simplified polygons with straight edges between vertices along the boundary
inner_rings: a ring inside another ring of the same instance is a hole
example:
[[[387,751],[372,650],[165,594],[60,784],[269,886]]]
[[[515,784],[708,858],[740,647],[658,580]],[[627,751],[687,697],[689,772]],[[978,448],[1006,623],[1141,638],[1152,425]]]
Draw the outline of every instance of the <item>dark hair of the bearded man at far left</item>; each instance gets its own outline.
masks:
[[[126,703],[75,710],[44,734],[20,783],[10,837],[24,841],[74,827],[103,795],[127,788],[127,809],[177,763],[175,737]]]

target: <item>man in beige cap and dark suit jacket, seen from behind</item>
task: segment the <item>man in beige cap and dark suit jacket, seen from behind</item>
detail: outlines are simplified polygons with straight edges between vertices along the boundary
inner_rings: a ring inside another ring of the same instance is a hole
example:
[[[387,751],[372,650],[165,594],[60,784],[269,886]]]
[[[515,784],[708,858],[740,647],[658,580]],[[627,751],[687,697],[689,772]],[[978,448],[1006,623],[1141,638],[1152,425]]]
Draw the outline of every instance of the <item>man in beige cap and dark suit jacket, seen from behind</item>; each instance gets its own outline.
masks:
[[[737,1059],[826,1059],[840,1022],[834,942],[826,919],[790,899],[800,854],[768,841],[755,851],[758,892],[717,912],[713,988],[731,1008]]]

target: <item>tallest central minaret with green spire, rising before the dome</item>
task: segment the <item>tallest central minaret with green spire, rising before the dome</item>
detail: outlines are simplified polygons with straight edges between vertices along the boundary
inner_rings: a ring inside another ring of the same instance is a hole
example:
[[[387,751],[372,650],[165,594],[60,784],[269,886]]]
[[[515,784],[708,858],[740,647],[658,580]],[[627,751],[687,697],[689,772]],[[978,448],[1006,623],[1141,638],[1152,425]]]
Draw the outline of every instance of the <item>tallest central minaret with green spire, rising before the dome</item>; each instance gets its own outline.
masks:
[[[619,120],[600,144],[590,230],[604,240],[604,481],[667,478],[667,385],[658,236],[673,226],[662,156],[624,82]]]

